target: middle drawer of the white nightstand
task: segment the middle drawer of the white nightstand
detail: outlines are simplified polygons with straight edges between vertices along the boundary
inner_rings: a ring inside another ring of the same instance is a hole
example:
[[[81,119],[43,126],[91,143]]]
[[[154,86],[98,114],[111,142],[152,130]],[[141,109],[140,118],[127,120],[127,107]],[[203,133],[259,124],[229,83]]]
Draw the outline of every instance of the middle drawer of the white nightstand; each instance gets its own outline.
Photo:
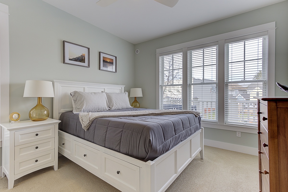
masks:
[[[15,160],[54,149],[54,137],[15,146]]]

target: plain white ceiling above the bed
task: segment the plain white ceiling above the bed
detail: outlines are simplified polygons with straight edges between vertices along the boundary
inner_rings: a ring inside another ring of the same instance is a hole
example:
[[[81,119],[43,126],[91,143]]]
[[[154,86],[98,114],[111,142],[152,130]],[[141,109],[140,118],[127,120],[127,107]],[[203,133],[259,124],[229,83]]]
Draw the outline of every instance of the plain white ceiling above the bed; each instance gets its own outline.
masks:
[[[179,0],[172,8],[154,0],[118,0],[107,7],[98,0],[43,1],[137,44],[285,0]]]

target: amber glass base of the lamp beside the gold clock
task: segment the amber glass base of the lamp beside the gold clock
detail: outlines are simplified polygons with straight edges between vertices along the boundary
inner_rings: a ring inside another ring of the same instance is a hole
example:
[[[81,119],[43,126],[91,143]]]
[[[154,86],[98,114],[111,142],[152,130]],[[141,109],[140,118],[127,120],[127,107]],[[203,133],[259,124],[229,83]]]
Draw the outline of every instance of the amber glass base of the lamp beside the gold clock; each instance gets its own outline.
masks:
[[[32,121],[43,121],[48,117],[49,110],[42,104],[42,97],[38,97],[37,105],[29,111],[29,118]]]

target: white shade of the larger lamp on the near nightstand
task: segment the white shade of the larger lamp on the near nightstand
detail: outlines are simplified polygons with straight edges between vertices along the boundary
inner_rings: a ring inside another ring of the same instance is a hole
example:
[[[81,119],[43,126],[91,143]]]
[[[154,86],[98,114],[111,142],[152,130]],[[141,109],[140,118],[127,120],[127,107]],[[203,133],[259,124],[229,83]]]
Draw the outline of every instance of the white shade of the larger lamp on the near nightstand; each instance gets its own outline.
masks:
[[[26,80],[23,97],[54,97],[51,81]]]

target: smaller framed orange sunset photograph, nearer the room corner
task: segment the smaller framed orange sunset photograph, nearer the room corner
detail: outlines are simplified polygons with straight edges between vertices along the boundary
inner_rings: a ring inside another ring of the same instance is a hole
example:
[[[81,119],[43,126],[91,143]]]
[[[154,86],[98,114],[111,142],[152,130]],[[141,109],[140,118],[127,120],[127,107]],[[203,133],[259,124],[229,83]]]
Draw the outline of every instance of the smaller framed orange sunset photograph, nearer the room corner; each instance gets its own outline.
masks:
[[[117,57],[99,52],[99,70],[117,73]]]

